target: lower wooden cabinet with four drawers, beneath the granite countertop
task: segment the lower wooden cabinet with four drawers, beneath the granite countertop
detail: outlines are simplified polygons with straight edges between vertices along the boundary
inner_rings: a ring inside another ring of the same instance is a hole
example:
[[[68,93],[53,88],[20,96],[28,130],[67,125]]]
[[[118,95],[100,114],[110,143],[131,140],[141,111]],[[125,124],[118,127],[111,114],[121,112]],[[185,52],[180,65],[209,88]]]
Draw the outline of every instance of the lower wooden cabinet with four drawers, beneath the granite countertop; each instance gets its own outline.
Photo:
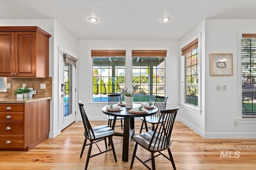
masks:
[[[0,104],[0,150],[30,150],[49,132],[50,100]]]

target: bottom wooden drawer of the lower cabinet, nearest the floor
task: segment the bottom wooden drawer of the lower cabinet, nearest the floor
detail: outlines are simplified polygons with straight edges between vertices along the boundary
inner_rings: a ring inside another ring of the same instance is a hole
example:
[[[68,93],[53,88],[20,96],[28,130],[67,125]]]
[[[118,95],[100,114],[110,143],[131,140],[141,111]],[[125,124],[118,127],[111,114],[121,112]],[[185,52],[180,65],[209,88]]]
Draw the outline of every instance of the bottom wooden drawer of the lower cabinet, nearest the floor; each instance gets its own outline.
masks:
[[[0,135],[0,148],[23,148],[23,135]]]

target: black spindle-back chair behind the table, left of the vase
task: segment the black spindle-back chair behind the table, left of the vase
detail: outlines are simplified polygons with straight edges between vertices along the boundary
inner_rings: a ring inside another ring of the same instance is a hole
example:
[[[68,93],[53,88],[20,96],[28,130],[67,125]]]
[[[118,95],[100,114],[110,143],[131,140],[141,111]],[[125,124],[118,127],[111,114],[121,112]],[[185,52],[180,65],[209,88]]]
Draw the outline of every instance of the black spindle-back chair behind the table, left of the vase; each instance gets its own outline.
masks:
[[[121,100],[121,94],[109,94],[108,95],[108,105],[117,104],[118,102],[120,102],[120,100]],[[108,117],[108,125],[110,127],[112,127],[112,121],[114,121],[114,116],[107,115],[107,117]],[[121,129],[123,130],[123,119],[124,119],[124,117],[116,117],[116,119],[121,120],[121,125],[116,125],[115,127],[121,126]]]

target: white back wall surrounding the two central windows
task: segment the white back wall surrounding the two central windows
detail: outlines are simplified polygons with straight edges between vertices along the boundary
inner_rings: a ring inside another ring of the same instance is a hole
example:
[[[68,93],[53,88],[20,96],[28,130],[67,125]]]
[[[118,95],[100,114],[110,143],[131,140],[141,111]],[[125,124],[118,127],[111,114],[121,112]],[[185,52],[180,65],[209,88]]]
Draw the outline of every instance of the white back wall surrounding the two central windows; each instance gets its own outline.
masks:
[[[126,50],[126,61],[132,60],[132,50],[166,49],[166,96],[167,108],[179,106],[179,41],[78,41],[78,100],[85,105],[90,120],[107,120],[101,112],[106,103],[92,103],[92,57],[91,49]],[[131,63],[131,62],[130,62]],[[132,80],[132,64],[126,67],[126,78]],[[128,85],[129,86],[129,85]],[[131,88],[131,87],[130,87]],[[79,115],[79,114],[78,114]],[[80,116],[80,115],[79,115]]]

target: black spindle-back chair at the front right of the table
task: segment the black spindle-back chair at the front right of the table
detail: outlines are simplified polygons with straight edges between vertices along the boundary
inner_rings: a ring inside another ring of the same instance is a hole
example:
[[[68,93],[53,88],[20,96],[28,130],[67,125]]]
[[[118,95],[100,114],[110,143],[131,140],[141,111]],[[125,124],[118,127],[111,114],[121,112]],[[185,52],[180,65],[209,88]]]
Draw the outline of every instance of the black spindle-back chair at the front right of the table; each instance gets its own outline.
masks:
[[[136,142],[136,144],[134,146],[130,169],[132,169],[134,158],[137,158],[149,170],[151,170],[150,167],[145,163],[151,160],[152,170],[155,170],[156,169],[155,157],[162,155],[172,162],[172,167],[174,170],[176,170],[174,160],[172,157],[172,152],[170,150],[170,146],[172,145],[172,141],[170,140],[170,138],[171,138],[172,128],[174,125],[174,121],[175,121],[175,117],[177,115],[178,109],[179,107],[176,107],[174,109],[161,110],[160,111],[161,119],[158,120],[155,131],[148,131],[145,133],[134,135],[132,137],[133,140]],[[136,150],[138,145],[148,150],[151,153],[151,158],[143,161],[138,156],[136,156]],[[169,157],[164,155],[161,152],[166,149],[168,150]],[[158,154],[154,155],[155,152],[158,152]]]

